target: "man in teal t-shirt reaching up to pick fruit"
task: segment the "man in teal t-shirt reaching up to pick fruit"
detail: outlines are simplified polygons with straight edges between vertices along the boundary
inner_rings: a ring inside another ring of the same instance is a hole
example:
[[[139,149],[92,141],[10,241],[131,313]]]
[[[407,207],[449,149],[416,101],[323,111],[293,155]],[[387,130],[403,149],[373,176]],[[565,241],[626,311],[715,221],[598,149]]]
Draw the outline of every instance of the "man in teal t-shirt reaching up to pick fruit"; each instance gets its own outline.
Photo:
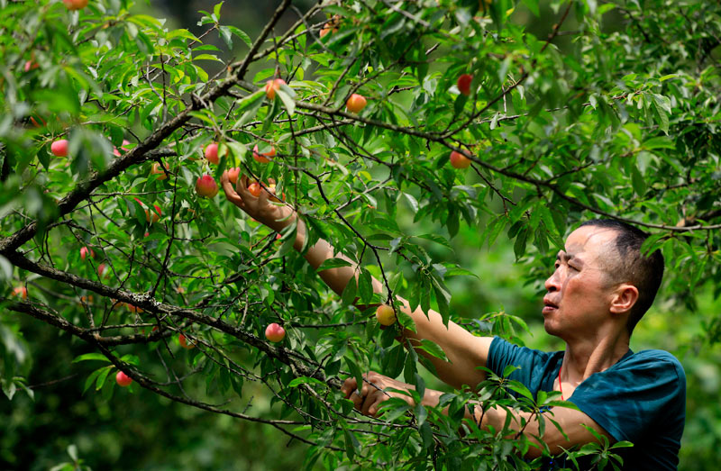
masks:
[[[297,222],[295,248],[302,249],[306,225],[292,209],[272,204],[272,195],[263,191],[254,197],[245,177],[235,188],[227,174],[221,178],[226,197],[256,220],[276,231]],[[404,331],[405,338],[433,340],[446,354],[448,362],[432,358],[438,376],[448,385],[475,387],[485,379],[478,367],[488,367],[501,376],[505,367],[519,367],[509,378],[538,391],[560,391],[561,397],[575,403],[579,410],[552,408],[556,427],[547,426],[543,442],[552,455],[562,449],[598,441],[594,433],[611,443],[628,440],[634,448],[625,448],[625,469],[675,469],[678,465],[680,438],[685,421],[686,377],[679,361],[661,350],[634,353],[629,349],[631,333],[643,313],[653,303],[661,285],[663,258],[659,251],[644,257],[640,251],[646,235],[623,222],[596,220],[582,224],[570,233],[565,248],[559,251],[555,270],[546,282],[543,297],[545,331],[566,343],[564,351],[546,353],[524,349],[499,338],[476,337],[459,325],[443,325],[438,312],[420,308],[404,312],[415,322],[416,332]],[[334,253],[325,240],[319,240],[306,253],[315,268],[328,258],[344,258]],[[347,259],[347,258],[346,258]],[[350,260],[349,260],[350,261]],[[319,272],[336,293],[355,276],[355,266]],[[374,289],[382,291],[378,280]],[[363,385],[349,378],[342,392],[356,409],[376,415],[390,396],[411,399],[386,388],[413,389],[387,376],[370,372]],[[359,392],[360,391],[360,394]],[[436,405],[442,393],[425,391],[422,403]],[[469,418],[478,420],[466,412]],[[507,412],[488,409],[482,413],[481,426],[500,430]],[[521,420],[530,413],[517,412],[512,427],[521,430]],[[532,441],[539,435],[538,421],[531,420],[523,433]],[[527,457],[537,457],[542,447],[531,447]]]

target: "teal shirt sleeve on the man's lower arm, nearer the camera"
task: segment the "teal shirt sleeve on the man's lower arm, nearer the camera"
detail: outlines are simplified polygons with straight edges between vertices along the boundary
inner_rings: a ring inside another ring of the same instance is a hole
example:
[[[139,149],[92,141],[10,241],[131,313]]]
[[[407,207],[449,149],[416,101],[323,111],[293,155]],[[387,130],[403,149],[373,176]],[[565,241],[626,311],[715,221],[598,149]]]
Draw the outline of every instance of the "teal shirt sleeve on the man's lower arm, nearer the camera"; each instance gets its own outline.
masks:
[[[678,359],[645,350],[589,376],[568,399],[614,439],[637,442],[685,419],[686,376]]]

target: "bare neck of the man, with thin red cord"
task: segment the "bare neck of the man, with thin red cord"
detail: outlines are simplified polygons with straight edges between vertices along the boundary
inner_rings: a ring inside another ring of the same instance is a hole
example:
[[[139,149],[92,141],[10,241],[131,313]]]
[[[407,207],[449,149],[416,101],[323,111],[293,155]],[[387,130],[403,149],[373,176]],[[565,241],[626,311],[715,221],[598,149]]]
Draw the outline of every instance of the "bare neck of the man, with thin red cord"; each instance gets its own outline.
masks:
[[[599,340],[576,340],[566,343],[563,356],[562,381],[578,385],[581,381],[616,365],[628,351],[629,336],[609,335]]]

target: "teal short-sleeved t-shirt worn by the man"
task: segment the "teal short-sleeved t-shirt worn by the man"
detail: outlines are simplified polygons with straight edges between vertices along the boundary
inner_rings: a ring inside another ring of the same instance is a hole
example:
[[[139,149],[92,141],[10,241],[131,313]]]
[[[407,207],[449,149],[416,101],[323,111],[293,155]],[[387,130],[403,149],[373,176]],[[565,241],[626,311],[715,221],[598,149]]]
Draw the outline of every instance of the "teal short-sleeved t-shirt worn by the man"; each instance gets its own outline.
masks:
[[[488,352],[488,369],[508,376],[531,393],[552,391],[563,352],[518,347],[496,337]],[[686,375],[680,362],[662,350],[631,350],[616,365],[589,376],[566,398],[603,427],[614,439],[633,448],[619,448],[627,470],[676,469],[686,421]]]

